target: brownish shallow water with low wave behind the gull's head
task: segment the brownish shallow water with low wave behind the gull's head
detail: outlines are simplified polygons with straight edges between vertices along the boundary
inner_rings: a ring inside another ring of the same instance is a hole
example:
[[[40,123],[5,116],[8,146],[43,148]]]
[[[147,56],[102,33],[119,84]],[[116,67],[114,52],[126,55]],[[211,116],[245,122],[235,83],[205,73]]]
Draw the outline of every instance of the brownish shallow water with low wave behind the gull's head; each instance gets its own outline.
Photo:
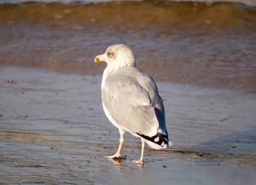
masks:
[[[125,43],[154,79],[255,94],[255,7],[205,2],[5,3],[0,65],[100,75],[94,57]]]

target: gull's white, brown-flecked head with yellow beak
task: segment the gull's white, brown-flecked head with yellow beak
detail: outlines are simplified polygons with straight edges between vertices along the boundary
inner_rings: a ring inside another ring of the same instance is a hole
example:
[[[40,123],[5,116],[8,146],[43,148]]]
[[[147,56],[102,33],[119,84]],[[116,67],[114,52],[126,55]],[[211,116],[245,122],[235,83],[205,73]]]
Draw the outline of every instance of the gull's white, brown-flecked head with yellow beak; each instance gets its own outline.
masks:
[[[105,61],[108,67],[113,69],[135,66],[133,51],[125,44],[109,46],[104,54],[100,54],[94,59],[95,63],[102,61]]]

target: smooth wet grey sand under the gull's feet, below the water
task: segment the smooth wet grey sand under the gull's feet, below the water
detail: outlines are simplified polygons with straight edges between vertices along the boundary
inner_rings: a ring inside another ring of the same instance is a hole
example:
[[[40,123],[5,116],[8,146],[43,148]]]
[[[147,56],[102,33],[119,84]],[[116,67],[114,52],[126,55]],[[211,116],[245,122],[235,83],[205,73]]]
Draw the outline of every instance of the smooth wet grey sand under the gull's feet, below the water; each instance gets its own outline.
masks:
[[[255,184],[254,94],[157,81],[174,146],[147,146],[140,168],[101,157],[115,153],[119,132],[100,83],[101,75],[0,68],[1,184]],[[121,153],[137,159],[140,147],[127,133]]]

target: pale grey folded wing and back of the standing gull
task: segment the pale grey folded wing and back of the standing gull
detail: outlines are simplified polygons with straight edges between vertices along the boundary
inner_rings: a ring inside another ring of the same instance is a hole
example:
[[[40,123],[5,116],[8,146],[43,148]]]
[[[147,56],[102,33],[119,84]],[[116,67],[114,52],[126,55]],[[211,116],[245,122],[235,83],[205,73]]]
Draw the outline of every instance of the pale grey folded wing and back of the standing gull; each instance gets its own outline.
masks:
[[[156,84],[135,67],[106,78],[102,101],[115,122],[133,134],[152,137],[158,129],[166,132],[164,106]]]

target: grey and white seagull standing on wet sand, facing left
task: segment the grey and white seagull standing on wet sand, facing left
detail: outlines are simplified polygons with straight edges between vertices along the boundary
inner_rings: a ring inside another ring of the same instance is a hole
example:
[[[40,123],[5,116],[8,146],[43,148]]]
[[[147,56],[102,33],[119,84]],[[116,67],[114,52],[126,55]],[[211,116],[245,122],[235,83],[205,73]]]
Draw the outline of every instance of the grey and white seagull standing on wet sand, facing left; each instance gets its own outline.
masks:
[[[132,163],[143,164],[145,142],[153,149],[172,143],[165,125],[164,104],[150,75],[137,69],[133,51],[125,44],[114,44],[94,62],[105,61],[101,84],[102,106],[106,117],[120,133],[119,147],[109,159],[122,158],[120,151],[125,132],[141,139],[141,157]]]

